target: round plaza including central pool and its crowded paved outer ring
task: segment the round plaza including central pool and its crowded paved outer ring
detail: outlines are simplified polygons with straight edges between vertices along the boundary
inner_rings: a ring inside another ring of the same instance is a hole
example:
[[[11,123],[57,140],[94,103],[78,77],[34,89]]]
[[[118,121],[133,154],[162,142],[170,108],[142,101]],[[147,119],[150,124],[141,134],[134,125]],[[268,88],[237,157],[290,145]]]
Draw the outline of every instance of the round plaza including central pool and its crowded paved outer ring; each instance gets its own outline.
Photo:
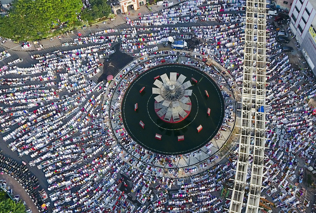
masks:
[[[234,94],[221,72],[196,53],[160,54],[118,72],[104,123],[121,147],[119,156],[134,167],[207,167],[234,129]]]

